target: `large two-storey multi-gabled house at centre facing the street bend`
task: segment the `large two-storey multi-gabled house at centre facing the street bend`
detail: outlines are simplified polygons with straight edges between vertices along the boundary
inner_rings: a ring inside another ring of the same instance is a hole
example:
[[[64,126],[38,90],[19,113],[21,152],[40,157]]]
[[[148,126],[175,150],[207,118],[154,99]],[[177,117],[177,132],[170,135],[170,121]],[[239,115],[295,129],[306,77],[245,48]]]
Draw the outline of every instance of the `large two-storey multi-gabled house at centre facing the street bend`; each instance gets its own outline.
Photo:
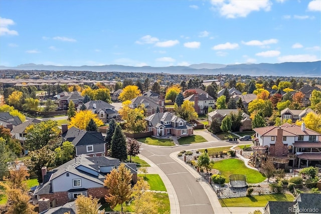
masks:
[[[173,113],[155,113],[147,118],[146,131],[154,136],[174,135],[185,137],[193,135],[193,126]]]

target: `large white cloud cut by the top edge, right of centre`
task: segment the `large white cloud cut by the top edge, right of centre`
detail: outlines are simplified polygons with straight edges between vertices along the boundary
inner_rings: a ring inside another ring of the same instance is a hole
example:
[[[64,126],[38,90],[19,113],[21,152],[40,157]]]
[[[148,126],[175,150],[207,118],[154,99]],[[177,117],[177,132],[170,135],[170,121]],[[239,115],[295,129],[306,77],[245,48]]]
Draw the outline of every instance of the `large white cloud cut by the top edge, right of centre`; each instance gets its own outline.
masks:
[[[269,0],[230,0],[211,1],[214,9],[226,18],[246,17],[253,11],[270,11],[272,3]]]

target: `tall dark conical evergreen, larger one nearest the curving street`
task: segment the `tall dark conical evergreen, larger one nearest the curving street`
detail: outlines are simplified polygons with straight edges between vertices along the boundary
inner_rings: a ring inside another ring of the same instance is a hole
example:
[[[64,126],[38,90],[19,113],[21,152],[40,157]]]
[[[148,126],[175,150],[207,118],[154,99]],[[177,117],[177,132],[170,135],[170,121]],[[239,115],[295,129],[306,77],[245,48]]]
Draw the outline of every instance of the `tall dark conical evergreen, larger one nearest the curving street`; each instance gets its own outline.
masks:
[[[126,137],[119,125],[116,126],[111,140],[111,157],[118,158],[120,161],[127,160]]]

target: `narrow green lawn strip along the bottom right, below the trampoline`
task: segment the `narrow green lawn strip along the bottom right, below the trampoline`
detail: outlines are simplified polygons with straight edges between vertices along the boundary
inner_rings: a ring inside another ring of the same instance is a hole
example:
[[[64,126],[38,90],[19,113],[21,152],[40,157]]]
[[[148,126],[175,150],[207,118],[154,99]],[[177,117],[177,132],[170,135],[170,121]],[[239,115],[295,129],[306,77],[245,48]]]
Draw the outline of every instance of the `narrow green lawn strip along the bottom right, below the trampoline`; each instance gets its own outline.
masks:
[[[221,205],[225,206],[265,206],[267,201],[293,201],[292,194],[266,194],[266,195],[253,195],[251,197],[233,197],[219,199]]]

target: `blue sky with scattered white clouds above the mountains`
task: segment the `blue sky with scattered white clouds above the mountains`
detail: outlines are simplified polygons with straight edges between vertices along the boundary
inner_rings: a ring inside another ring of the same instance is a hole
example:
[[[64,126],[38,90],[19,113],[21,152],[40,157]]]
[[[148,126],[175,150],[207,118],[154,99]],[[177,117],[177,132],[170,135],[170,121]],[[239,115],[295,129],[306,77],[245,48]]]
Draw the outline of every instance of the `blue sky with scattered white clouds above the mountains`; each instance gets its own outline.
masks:
[[[0,1],[0,65],[321,60],[321,0]]]

